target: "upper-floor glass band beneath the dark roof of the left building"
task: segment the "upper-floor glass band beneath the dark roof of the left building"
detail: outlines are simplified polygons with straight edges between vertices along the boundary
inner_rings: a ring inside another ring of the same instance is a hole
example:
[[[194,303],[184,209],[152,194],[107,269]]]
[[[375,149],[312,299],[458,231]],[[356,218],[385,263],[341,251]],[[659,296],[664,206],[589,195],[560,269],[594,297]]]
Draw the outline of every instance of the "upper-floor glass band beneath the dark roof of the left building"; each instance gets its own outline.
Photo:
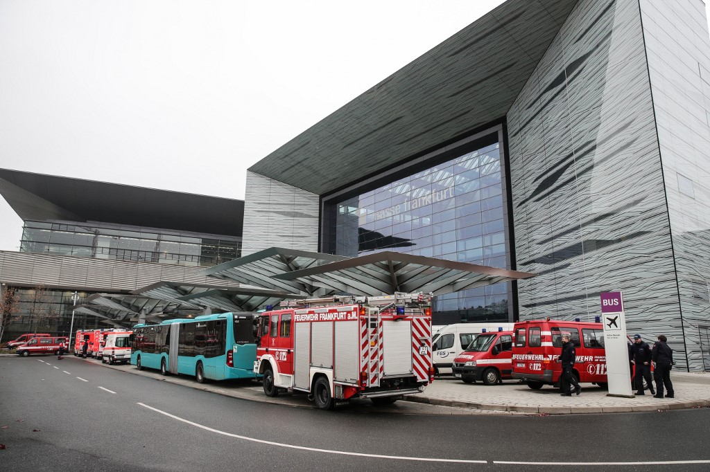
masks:
[[[214,266],[241,255],[241,238],[145,227],[25,221],[20,251]]]

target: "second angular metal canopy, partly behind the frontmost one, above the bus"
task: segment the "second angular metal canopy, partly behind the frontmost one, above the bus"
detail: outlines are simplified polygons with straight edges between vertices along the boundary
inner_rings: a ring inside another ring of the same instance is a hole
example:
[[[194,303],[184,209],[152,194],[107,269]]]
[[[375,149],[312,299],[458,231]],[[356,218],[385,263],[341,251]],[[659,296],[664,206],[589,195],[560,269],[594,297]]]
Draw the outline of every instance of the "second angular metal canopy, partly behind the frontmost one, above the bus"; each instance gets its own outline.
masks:
[[[239,259],[210,267],[202,271],[202,274],[219,279],[233,279],[247,285],[270,288],[272,290],[313,295],[318,291],[318,287],[312,286],[310,283],[275,279],[274,276],[344,259],[347,259],[347,257],[270,247],[263,249],[263,251],[249,254],[249,256],[239,257]]]

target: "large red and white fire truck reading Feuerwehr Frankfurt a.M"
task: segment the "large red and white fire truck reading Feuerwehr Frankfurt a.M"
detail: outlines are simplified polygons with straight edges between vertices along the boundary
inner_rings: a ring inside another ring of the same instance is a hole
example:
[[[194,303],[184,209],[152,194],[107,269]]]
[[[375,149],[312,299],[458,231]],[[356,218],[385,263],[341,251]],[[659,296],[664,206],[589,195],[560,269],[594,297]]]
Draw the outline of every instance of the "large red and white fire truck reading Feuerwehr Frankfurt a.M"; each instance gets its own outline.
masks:
[[[318,408],[370,398],[376,405],[423,392],[434,378],[431,293],[332,296],[261,313],[254,373],[263,390],[309,394]]]

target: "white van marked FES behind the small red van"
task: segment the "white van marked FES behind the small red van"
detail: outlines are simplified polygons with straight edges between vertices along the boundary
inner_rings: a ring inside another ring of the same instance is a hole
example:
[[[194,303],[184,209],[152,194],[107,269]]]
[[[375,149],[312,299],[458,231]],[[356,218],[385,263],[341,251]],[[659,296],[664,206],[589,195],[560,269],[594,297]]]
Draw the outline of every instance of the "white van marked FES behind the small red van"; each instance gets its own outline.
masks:
[[[457,355],[481,332],[512,331],[514,323],[457,323],[439,329],[432,337],[432,359],[436,375],[452,373]]]

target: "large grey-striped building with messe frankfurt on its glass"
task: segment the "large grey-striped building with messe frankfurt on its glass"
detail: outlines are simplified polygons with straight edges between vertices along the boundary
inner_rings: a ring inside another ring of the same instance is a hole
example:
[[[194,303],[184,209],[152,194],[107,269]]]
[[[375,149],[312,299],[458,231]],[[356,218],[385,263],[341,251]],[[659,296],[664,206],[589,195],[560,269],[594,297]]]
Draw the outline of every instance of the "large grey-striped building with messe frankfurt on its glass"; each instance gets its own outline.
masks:
[[[508,0],[260,162],[244,254],[395,250],[535,272],[439,320],[593,320],[710,370],[701,0]]]

